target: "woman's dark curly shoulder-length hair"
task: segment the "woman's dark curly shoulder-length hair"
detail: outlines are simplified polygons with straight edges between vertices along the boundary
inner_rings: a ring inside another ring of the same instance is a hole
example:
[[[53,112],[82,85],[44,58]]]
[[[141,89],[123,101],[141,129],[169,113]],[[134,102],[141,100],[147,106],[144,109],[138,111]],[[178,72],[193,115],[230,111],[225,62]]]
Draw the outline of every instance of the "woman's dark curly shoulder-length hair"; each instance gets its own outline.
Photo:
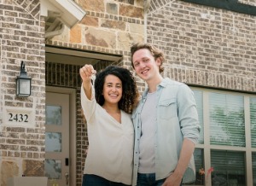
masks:
[[[133,108],[137,106],[139,93],[135,78],[132,76],[131,72],[124,67],[109,66],[103,69],[101,72],[96,73],[96,80],[94,84],[96,102],[101,106],[105,102],[102,92],[105,78],[109,74],[118,77],[122,82],[123,93],[118,103],[119,109],[125,111],[126,113],[131,113]]]

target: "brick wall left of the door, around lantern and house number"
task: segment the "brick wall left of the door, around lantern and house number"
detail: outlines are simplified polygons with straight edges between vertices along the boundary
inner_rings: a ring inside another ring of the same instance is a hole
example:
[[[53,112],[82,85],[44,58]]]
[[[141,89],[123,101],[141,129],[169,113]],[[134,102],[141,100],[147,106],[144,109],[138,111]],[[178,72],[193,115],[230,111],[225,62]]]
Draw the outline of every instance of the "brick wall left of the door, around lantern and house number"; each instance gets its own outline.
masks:
[[[8,177],[44,176],[44,20],[39,0],[0,0],[0,185]],[[15,96],[25,61],[32,96]],[[9,124],[6,110],[30,110],[27,125]]]

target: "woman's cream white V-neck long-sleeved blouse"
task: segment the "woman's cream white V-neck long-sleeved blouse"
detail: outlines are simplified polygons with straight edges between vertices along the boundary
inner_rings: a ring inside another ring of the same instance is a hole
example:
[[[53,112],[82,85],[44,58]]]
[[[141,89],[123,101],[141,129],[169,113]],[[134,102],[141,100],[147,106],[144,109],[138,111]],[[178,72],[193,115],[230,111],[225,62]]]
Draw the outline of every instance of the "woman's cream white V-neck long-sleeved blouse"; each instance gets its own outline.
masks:
[[[89,148],[84,174],[94,174],[112,182],[131,185],[134,129],[131,114],[121,110],[121,124],[81,87],[81,104],[87,121]]]

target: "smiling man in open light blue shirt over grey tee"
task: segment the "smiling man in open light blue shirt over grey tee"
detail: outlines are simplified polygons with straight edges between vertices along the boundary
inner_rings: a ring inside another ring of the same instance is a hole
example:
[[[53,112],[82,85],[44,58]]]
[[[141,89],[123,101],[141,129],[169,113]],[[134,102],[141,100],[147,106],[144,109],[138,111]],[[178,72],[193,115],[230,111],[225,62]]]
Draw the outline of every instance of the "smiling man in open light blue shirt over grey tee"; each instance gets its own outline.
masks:
[[[200,126],[194,94],[186,84],[162,78],[163,61],[163,52],[150,44],[131,47],[131,66],[148,84],[132,113],[132,185],[179,186],[195,180],[193,152]]]

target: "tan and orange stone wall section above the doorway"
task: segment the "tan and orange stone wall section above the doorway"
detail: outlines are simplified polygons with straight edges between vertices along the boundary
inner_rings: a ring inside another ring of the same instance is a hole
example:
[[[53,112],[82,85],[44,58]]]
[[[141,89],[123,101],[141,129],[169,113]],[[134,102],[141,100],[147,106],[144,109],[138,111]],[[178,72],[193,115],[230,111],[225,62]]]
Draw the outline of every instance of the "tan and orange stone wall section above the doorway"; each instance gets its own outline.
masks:
[[[75,0],[86,16],[71,30],[46,44],[96,51],[109,55],[129,55],[135,41],[143,41],[144,15],[142,0]],[[128,61],[124,66],[130,67]]]

